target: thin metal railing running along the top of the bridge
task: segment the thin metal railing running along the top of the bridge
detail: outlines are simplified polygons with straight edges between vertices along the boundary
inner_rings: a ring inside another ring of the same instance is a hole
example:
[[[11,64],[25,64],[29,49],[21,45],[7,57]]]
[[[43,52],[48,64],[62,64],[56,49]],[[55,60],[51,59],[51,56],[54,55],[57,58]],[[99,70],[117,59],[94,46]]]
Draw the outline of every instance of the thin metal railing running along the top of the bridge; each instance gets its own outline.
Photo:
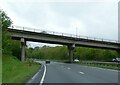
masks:
[[[69,33],[60,33],[60,32],[40,30],[40,29],[30,28],[30,27],[21,27],[21,26],[16,26],[16,25],[13,25],[9,28],[23,30],[23,31],[36,32],[36,33],[45,33],[45,34],[51,34],[51,35],[59,35],[59,36],[66,36],[66,37],[73,37],[73,38],[82,38],[82,39],[88,39],[88,40],[102,41],[102,42],[120,43],[118,40],[95,38],[95,37],[88,37],[88,36],[75,35],[75,34],[69,34]]]

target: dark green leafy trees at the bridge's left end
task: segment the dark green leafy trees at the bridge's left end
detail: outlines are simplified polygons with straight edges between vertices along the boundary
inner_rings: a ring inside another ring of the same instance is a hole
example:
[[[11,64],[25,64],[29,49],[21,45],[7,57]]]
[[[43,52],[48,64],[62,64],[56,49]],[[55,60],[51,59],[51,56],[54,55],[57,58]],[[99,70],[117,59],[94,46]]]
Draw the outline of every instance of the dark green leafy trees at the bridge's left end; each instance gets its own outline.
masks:
[[[2,21],[2,53],[3,55],[14,55],[20,59],[20,42],[13,41],[7,31],[12,21],[2,10],[0,10],[0,16]]]

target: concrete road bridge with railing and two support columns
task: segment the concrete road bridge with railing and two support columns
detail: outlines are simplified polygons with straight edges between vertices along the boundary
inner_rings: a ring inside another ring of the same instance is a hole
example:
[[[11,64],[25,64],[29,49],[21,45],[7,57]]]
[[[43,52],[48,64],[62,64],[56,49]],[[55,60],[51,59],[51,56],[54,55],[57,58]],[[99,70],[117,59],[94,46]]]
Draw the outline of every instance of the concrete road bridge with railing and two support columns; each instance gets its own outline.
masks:
[[[69,50],[70,62],[73,62],[73,52],[75,46],[111,49],[116,50],[120,55],[120,42],[116,40],[92,38],[52,31],[42,31],[38,29],[31,29],[19,26],[9,27],[8,31],[12,39],[21,41],[22,61],[25,60],[26,41],[67,45]]]

